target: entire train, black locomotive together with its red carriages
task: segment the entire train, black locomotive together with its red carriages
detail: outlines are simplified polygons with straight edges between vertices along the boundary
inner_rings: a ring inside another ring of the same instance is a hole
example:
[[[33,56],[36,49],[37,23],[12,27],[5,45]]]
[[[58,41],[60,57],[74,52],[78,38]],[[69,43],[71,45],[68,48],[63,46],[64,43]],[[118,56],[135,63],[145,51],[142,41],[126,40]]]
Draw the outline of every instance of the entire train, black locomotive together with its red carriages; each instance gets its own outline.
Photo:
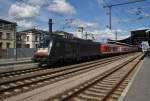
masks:
[[[39,65],[64,61],[80,61],[108,55],[138,51],[138,47],[130,45],[106,44],[73,37],[67,32],[55,32],[40,42],[33,60]]]

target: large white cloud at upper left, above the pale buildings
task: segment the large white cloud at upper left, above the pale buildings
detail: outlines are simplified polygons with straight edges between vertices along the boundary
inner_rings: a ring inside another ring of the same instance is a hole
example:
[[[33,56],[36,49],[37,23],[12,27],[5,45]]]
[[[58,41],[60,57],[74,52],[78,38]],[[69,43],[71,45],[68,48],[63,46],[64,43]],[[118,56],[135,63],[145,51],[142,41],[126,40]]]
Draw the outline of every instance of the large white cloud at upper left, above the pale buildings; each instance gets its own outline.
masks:
[[[16,2],[9,8],[9,18],[16,21],[18,26],[33,27],[34,19],[39,15],[45,0],[28,0]]]

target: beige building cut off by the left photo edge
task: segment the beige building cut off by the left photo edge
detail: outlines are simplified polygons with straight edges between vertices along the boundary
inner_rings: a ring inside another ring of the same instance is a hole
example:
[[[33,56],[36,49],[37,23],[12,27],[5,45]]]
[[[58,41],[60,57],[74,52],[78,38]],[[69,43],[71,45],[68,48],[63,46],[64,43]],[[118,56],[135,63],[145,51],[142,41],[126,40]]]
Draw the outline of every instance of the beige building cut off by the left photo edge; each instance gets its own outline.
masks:
[[[14,48],[16,23],[0,19],[0,49]]]

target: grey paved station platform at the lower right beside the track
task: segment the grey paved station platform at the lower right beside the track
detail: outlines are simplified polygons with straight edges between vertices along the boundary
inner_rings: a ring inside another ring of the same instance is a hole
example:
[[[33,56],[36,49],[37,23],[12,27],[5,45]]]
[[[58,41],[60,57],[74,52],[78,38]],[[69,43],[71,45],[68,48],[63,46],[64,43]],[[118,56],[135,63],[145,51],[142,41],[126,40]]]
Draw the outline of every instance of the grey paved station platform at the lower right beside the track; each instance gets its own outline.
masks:
[[[144,58],[118,101],[150,101],[150,55]]]

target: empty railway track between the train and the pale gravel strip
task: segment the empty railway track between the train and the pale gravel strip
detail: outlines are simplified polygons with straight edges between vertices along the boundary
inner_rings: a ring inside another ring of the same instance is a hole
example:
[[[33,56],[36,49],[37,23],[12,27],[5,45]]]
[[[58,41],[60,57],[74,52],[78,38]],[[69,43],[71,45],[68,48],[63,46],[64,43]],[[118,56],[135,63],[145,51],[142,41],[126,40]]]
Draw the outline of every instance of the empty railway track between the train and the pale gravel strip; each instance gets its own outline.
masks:
[[[116,56],[108,59],[96,60],[87,63],[81,63],[72,66],[65,66],[56,69],[46,69],[34,72],[26,72],[18,76],[10,75],[0,80],[0,97],[5,99],[12,95],[19,94],[33,90],[37,87],[42,87],[47,84],[52,84],[56,81],[63,80],[74,75],[78,75],[92,69],[99,68],[97,66],[104,66],[113,61],[125,58],[128,55]],[[133,54],[132,54],[133,55]]]

